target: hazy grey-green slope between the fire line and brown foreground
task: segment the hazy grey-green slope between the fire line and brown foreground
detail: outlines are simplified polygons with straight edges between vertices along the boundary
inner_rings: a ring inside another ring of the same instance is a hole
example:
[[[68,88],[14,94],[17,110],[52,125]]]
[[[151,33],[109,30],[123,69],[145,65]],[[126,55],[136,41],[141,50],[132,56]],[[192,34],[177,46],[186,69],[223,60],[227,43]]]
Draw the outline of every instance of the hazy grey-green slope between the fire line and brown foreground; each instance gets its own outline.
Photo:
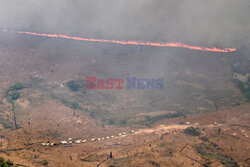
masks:
[[[151,124],[161,118],[217,111],[246,102],[232,69],[242,58],[239,51],[213,53],[0,35],[2,113],[10,117],[5,111],[11,107],[5,103],[6,92],[22,83],[16,111],[20,124],[27,118],[25,112],[33,113],[45,99],[67,108],[75,103],[80,115],[101,125],[118,126]],[[86,77],[162,78],[163,89],[87,90]],[[69,81],[79,89],[70,90]]]

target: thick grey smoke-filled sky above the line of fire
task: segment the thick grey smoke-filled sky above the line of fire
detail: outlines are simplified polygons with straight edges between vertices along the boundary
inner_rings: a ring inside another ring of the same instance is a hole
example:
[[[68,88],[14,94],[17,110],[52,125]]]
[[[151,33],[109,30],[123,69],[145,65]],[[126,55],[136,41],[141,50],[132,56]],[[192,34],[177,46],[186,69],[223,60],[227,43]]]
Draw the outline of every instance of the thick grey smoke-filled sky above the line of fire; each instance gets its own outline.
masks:
[[[1,0],[0,28],[117,40],[234,47],[249,0]]]

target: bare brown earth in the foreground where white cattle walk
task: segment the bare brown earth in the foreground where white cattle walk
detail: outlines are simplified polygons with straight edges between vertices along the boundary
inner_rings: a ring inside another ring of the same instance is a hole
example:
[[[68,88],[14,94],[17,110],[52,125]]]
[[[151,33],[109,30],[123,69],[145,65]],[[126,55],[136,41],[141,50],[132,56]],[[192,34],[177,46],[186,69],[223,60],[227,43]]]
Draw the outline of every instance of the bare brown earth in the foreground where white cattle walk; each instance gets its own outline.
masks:
[[[50,107],[49,107],[50,106]],[[77,123],[70,111],[56,110],[57,104],[46,103],[39,115],[31,115],[31,125],[2,132],[4,142],[1,156],[15,164],[42,166],[248,166],[250,157],[250,104],[219,112],[192,115],[162,121],[152,128],[100,128],[90,120]],[[53,112],[50,112],[53,111]],[[44,120],[46,123],[39,122]],[[68,123],[63,123],[67,118]],[[59,124],[59,127],[56,126]],[[73,126],[75,124],[75,126]],[[61,126],[62,125],[62,126]],[[200,137],[183,133],[193,126]],[[221,133],[218,134],[218,129]],[[119,132],[127,132],[119,136]],[[114,135],[114,138],[91,141],[91,138]],[[18,137],[17,137],[18,136]],[[91,138],[90,138],[91,136]],[[87,139],[86,143],[42,146],[42,142]],[[206,138],[206,139],[205,139]],[[209,155],[197,151],[202,147]],[[11,151],[11,149],[21,149]],[[8,151],[9,150],[9,151]],[[113,158],[109,158],[112,152]],[[232,164],[227,164],[232,161]],[[223,164],[224,163],[224,164]]]

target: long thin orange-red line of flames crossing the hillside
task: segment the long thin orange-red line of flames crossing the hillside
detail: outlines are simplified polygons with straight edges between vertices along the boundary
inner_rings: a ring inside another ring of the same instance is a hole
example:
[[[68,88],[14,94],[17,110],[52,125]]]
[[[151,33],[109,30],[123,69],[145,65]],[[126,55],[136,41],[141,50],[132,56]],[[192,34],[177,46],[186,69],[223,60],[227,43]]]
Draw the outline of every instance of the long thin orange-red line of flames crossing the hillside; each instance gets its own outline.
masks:
[[[4,32],[13,32],[18,34],[27,34],[34,36],[43,36],[43,37],[51,37],[51,38],[64,38],[64,39],[73,39],[78,41],[89,41],[89,42],[105,42],[105,43],[115,43],[121,45],[142,45],[142,46],[157,46],[157,47],[175,47],[175,48],[187,48],[191,50],[200,50],[200,51],[208,51],[208,52],[234,52],[236,48],[206,48],[200,46],[191,46],[183,43],[161,43],[161,42],[142,42],[142,41],[118,41],[118,40],[106,40],[106,39],[93,39],[93,38],[82,38],[82,37],[73,37],[62,34],[44,34],[44,33],[35,33],[35,32],[27,32],[27,31],[12,31],[12,30],[2,30]]]

